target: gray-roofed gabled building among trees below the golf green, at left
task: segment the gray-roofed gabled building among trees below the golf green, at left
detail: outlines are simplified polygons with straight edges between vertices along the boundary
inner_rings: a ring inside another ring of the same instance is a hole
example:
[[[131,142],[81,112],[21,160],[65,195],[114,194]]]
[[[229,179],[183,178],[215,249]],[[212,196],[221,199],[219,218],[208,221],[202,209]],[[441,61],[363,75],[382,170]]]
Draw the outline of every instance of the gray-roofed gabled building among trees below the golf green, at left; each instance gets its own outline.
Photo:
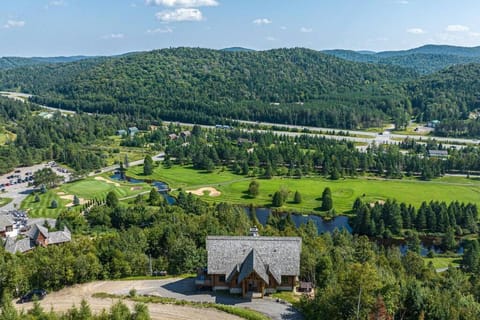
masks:
[[[38,224],[32,225],[26,233],[26,238],[16,239],[9,237],[5,242],[5,250],[10,253],[24,253],[33,250],[37,246],[49,246],[70,242],[72,235],[67,227],[63,231],[50,232],[47,228]]]

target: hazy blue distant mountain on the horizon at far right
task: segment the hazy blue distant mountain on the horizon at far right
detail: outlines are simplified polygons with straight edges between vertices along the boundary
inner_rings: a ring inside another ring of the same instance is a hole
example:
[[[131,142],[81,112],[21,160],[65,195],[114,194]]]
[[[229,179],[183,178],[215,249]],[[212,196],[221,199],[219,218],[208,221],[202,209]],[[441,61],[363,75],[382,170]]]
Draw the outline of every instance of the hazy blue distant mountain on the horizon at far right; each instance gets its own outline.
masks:
[[[426,45],[403,51],[326,50],[326,54],[349,61],[396,65],[422,74],[434,73],[454,65],[480,63],[480,47]]]

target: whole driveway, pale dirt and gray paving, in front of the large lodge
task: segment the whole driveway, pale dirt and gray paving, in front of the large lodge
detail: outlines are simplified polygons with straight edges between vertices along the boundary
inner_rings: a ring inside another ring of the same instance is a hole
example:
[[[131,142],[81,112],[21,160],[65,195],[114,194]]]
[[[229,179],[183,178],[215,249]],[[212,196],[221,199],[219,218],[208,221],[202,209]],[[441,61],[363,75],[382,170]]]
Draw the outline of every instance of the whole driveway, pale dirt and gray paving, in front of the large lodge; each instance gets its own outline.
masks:
[[[72,304],[80,305],[82,299],[87,300],[92,310],[101,311],[109,308],[114,299],[92,298],[96,292],[110,294],[128,294],[131,289],[138,294],[149,294],[161,297],[183,299],[188,301],[207,301],[220,304],[235,305],[259,311],[274,320],[301,320],[302,316],[288,304],[278,303],[274,299],[245,300],[228,295],[213,295],[212,292],[195,291],[193,279],[162,279],[162,280],[135,280],[135,281],[96,281],[82,285],[75,285],[58,292],[49,293],[40,303],[45,310],[53,308],[56,311],[66,311]],[[131,301],[125,301],[129,306]],[[32,303],[17,304],[18,309],[29,309]],[[152,319],[198,319],[198,320],[238,320],[240,318],[219,312],[214,309],[194,307],[180,307],[163,304],[148,305]]]

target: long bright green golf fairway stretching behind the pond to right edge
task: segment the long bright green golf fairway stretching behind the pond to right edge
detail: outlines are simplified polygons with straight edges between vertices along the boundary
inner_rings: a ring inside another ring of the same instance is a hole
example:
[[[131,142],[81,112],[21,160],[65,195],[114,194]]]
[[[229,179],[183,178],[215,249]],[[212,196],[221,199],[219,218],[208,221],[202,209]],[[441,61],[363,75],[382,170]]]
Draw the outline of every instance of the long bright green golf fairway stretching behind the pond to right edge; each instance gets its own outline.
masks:
[[[330,187],[333,203],[337,212],[348,212],[357,197],[365,202],[375,202],[386,199],[396,199],[414,206],[420,206],[423,201],[461,201],[480,205],[480,181],[461,177],[444,177],[433,181],[416,179],[385,180],[374,177],[359,177],[332,181],[323,177],[291,179],[275,177],[271,180],[258,179],[260,194],[251,198],[246,191],[251,178],[239,176],[228,170],[217,169],[213,173],[194,170],[190,167],[174,166],[165,169],[155,168],[154,174],[148,177],[142,175],[142,166],[130,168],[128,175],[139,179],[152,179],[167,182],[172,189],[182,188],[194,190],[199,187],[212,186],[221,192],[219,197],[204,195],[206,201],[226,201],[238,204],[253,203],[257,206],[268,206],[272,195],[280,189],[287,189],[290,198],[284,209],[300,212],[318,211],[321,206],[322,191]],[[302,195],[302,203],[291,202],[293,194],[298,190]]]

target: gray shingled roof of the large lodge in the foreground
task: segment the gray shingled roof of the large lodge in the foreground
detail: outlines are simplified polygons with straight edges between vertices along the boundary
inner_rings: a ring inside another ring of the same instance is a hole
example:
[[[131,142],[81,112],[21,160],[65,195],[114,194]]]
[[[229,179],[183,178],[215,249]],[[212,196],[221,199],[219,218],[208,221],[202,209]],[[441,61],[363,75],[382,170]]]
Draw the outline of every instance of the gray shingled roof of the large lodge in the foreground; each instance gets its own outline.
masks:
[[[209,236],[208,273],[230,278],[236,272],[244,276],[254,270],[262,278],[270,273],[280,283],[283,275],[300,274],[301,249],[302,239],[298,237]]]

